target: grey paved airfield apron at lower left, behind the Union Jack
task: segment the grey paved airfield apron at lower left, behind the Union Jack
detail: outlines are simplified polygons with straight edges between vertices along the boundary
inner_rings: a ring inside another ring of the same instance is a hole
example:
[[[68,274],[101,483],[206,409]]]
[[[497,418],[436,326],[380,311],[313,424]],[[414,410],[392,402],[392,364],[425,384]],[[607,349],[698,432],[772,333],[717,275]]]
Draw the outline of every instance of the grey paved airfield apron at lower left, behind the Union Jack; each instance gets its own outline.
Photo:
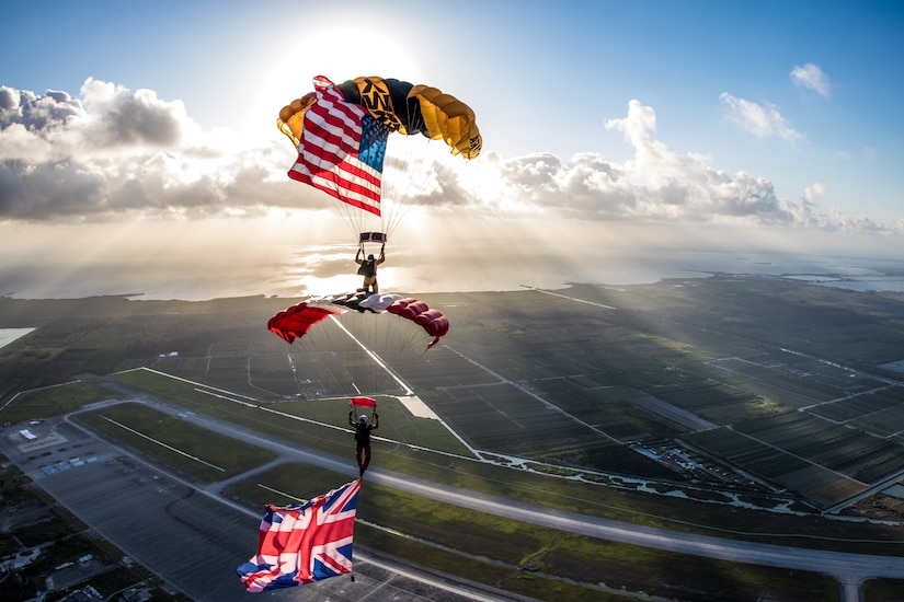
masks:
[[[252,511],[211,495],[148,456],[115,447],[77,422],[48,420],[33,428],[42,435],[37,444],[21,444],[16,432],[5,429],[0,437],[0,450],[90,524],[95,536],[115,542],[128,551],[130,562],[163,576],[164,589],[173,593],[183,593],[191,600],[248,600],[234,570],[254,553],[262,510]],[[323,458],[302,458],[324,462]],[[352,471],[347,472],[351,481]],[[423,571],[414,576],[410,567],[385,560],[376,551],[358,552],[355,560],[354,581],[340,577],[283,590],[268,598],[527,600],[494,593],[451,576]],[[84,579],[84,564],[77,569],[78,580]],[[65,588],[60,582],[62,574],[57,571],[57,588]]]

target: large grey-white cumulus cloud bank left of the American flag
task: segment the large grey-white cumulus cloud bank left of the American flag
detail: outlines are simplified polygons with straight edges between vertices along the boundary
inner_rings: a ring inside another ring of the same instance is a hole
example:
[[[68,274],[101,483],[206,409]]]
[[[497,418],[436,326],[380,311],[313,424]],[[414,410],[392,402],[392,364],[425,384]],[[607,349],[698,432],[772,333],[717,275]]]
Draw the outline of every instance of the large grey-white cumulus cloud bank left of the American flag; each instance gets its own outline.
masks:
[[[284,149],[232,152],[150,90],[88,79],[80,92],[0,86],[0,219],[259,216],[305,198],[264,185],[285,173]]]

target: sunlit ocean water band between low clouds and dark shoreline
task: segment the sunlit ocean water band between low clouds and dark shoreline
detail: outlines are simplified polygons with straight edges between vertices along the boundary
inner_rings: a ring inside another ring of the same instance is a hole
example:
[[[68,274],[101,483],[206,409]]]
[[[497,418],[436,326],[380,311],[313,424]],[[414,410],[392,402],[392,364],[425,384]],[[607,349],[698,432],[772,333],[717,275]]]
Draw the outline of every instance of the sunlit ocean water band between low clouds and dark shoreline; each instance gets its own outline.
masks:
[[[354,248],[344,242],[293,245],[287,252],[105,256],[0,261],[0,294],[20,299],[135,294],[144,299],[204,300],[227,297],[304,298],[354,290]],[[680,248],[598,248],[580,254],[525,254],[522,248],[388,253],[380,268],[384,291],[410,293],[561,289],[571,282],[625,286],[664,278],[705,278],[713,273],[790,278],[858,291],[904,292],[904,259],[788,253],[725,253]]]

